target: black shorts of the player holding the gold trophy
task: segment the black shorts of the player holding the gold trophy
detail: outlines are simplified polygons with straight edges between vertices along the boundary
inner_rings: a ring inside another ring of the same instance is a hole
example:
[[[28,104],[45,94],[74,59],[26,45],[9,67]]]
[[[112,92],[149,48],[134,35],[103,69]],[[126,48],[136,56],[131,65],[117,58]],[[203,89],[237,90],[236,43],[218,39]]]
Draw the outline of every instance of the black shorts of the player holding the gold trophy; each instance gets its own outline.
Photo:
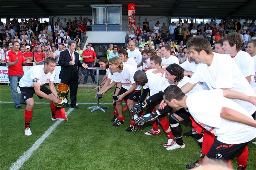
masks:
[[[52,94],[51,90],[49,90],[47,87],[45,87],[44,85],[42,85],[40,87],[40,90],[42,92],[44,92],[45,94]],[[27,100],[29,98],[32,98],[34,93],[35,93],[35,89],[34,87],[20,87],[20,91],[24,96],[24,99]],[[38,96],[38,95],[37,95]],[[43,99],[42,97],[38,96],[39,99]]]

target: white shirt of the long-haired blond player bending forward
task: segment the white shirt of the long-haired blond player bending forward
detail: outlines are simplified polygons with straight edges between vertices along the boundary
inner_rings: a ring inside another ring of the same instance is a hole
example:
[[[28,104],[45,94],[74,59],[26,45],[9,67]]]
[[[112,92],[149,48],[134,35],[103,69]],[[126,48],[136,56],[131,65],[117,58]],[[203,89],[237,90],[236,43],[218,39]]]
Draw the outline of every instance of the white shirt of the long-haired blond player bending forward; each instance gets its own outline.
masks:
[[[115,82],[121,82],[122,87],[125,88],[126,90],[129,90],[132,87],[133,83],[136,83],[133,79],[133,75],[137,71],[134,66],[125,64],[123,67],[123,70],[121,73],[114,72],[113,73],[113,81]],[[135,90],[140,90],[141,86],[138,85],[138,87]]]

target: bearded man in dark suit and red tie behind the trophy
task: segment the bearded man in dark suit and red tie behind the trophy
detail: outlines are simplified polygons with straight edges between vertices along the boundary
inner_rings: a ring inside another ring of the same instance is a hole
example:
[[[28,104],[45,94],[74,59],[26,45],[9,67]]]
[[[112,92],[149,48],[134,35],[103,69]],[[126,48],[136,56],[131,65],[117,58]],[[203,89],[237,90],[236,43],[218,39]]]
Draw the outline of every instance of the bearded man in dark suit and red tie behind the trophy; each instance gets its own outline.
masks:
[[[76,106],[76,94],[78,87],[78,69],[79,67],[88,68],[87,64],[82,64],[79,60],[79,54],[75,51],[76,42],[71,40],[68,42],[68,50],[60,53],[59,65],[61,66],[59,78],[60,83],[69,85],[70,90],[70,107],[78,109]],[[67,98],[68,93],[66,94]],[[65,104],[68,107],[68,103]]]

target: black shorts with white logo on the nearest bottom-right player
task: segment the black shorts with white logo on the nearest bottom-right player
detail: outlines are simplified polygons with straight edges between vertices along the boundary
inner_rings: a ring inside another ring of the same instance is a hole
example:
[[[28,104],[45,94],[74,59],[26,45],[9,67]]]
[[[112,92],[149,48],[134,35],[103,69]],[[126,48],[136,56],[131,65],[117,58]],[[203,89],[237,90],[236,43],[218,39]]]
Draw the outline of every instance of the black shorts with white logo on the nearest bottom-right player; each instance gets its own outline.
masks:
[[[249,142],[240,144],[226,144],[215,139],[206,156],[209,159],[222,159],[228,161],[239,155]]]

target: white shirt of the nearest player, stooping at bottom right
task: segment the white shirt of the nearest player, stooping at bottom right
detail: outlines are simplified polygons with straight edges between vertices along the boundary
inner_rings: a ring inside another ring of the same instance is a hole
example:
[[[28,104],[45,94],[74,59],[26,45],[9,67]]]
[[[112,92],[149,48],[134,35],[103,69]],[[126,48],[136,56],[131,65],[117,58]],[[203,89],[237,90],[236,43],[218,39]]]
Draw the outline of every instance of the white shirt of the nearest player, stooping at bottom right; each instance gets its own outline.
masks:
[[[195,121],[223,143],[245,143],[256,137],[256,128],[220,117],[221,109],[227,107],[253,119],[244,108],[223,97],[221,89],[203,90],[191,94],[186,99],[186,105]]]

